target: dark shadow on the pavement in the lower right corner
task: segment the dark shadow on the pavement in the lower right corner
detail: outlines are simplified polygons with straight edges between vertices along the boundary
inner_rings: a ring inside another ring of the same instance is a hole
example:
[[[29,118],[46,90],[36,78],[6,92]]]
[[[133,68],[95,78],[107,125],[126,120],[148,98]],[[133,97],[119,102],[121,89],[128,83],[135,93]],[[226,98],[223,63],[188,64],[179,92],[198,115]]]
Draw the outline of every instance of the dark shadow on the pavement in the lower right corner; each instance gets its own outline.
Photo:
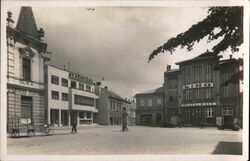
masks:
[[[242,142],[220,141],[212,154],[242,155]]]

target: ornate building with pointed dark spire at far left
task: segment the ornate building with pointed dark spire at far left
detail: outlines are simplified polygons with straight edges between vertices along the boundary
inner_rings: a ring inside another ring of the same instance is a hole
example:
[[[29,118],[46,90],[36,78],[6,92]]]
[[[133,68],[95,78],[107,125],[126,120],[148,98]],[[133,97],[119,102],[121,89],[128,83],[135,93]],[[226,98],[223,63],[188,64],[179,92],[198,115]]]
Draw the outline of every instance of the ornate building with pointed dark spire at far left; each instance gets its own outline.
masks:
[[[31,7],[21,8],[13,26],[8,12],[7,127],[12,132],[22,123],[38,128],[44,122],[44,63],[48,60],[44,30],[38,30]]]

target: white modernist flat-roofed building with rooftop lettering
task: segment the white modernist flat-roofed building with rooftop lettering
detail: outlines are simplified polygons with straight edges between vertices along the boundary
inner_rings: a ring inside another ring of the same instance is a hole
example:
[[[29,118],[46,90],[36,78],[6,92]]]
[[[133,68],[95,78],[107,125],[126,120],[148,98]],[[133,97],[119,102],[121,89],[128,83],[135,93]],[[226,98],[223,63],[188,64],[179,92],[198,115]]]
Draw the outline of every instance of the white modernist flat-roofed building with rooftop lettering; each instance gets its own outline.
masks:
[[[92,79],[66,69],[46,66],[46,118],[48,124],[70,126],[92,124],[98,112]]]

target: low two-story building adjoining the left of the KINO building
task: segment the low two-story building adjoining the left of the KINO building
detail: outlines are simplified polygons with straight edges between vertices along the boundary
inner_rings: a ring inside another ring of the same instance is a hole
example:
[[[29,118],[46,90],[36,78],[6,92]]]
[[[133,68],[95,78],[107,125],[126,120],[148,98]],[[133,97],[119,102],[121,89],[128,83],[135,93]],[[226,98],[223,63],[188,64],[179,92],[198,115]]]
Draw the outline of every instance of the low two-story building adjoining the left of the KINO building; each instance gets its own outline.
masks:
[[[163,87],[156,88],[136,97],[136,125],[161,125],[163,123]]]

